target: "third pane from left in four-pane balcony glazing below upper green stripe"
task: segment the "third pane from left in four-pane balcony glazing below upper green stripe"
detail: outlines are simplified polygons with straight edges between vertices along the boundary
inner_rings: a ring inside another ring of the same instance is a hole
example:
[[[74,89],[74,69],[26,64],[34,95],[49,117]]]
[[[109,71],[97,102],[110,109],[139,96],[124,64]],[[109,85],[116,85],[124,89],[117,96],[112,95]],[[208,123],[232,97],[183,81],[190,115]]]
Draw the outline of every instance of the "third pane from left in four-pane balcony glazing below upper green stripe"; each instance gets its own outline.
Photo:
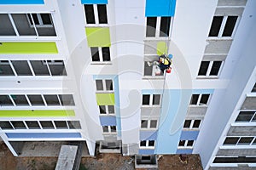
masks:
[[[49,76],[49,70],[47,68],[46,61],[31,60],[30,63],[36,76]]]

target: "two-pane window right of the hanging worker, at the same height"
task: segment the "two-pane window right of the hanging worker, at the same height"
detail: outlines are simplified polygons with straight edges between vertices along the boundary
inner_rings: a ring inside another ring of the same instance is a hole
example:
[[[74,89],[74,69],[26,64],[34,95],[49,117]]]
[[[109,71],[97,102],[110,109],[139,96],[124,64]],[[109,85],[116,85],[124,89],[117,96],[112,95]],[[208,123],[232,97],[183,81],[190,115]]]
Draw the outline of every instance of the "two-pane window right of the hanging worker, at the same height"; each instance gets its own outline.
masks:
[[[201,61],[199,77],[218,77],[223,61]]]

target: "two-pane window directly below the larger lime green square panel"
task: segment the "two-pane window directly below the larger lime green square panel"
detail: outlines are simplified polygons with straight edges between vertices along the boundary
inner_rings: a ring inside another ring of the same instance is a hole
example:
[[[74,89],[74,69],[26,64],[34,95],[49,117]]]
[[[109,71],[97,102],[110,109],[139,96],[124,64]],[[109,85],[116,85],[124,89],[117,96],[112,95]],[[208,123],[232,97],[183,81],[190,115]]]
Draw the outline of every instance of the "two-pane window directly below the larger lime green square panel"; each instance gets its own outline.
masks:
[[[92,62],[108,62],[111,60],[109,47],[90,48],[90,54]]]

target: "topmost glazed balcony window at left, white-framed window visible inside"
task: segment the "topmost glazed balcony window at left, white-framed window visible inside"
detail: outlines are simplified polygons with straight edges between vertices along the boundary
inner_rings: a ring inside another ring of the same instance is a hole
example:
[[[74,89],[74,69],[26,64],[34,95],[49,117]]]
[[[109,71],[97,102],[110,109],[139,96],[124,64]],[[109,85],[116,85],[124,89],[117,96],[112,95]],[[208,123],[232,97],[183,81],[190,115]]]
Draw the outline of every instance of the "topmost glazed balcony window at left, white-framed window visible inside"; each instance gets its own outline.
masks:
[[[51,14],[0,14],[0,22],[0,36],[56,36]]]

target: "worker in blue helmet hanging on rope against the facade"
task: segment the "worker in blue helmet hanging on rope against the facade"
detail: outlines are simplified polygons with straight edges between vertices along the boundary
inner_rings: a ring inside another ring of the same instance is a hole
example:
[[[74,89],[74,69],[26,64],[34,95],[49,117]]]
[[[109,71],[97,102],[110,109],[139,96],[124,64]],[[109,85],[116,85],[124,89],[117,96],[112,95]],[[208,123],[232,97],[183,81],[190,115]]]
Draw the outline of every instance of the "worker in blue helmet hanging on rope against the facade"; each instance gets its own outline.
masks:
[[[172,54],[166,56],[165,54],[160,55],[158,61],[150,62],[148,61],[148,66],[157,65],[159,66],[160,70],[164,73],[171,73],[172,71]]]

